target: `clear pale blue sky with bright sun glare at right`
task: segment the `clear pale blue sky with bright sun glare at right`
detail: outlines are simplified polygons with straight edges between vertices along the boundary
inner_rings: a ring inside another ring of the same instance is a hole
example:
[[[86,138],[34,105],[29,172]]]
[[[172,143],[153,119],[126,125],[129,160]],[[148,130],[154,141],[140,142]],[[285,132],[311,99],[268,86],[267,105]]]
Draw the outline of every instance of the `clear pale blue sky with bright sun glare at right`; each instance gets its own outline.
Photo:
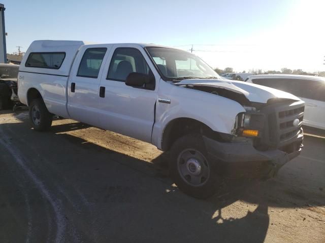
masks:
[[[154,43],[213,68],[325,71],[325,0],[2,0],[7,53],[36,39]]]

